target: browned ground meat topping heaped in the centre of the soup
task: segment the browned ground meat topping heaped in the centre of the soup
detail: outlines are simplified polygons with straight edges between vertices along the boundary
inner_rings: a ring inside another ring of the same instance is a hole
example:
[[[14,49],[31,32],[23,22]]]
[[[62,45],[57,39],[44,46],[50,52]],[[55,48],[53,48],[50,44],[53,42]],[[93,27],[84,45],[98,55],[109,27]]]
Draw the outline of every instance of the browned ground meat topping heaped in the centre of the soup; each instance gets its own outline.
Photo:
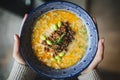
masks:
[[[71,29],[68,22],[61,22],[60,25],[54,25],[54,31],[50,36],[43,36],[42,44],[45,46],[44,51],[54,51],[55,54],[67,51],[68,45],[74,40],[75,32]]]

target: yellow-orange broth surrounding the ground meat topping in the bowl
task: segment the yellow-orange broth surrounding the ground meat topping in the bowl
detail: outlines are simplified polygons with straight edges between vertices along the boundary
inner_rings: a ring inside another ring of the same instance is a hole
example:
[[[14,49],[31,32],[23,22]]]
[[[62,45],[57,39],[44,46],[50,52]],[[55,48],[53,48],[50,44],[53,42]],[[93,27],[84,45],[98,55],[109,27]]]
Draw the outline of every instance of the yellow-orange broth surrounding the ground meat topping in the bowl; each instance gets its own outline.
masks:
[[[62,57],[61,62],[51,61],[52,53],[44,52],[44,46],[41,44],[43,34],[49,36],[51,25],[58,21],[68,21],[70,27],[75,31],[75,39],[69,44],[68,51]],[[74,13],[67,10],[52,10],[38,18],[32,32],[32,49],[38,60],[54,69],[68,68],[76,64],[84,56],[88,43],[87,29],[82,20]]]

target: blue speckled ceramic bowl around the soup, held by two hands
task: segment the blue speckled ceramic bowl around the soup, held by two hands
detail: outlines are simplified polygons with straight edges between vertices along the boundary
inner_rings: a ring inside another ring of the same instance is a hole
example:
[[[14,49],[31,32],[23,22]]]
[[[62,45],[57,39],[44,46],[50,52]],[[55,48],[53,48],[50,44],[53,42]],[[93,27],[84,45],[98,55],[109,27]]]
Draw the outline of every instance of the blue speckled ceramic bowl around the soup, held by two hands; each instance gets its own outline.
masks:
[[[53,69],[38,61],[32,51],[31,46],[31,34],[34,23],[42,14],[54,9],[64,9],[77,14],[82,19],[88,32],[88,46],[85,55],[75,65],[65,69]],[[36,73],[49,78],[60,79],[79,75],[90,65],[90,63],[94,59],[97,51],[97,46],[98,31],[93,19],[80,6],[65,1],[48,2],[32,10],[25,20],[20,34],[20,52],[24,60],[26,61],[28,66]]]

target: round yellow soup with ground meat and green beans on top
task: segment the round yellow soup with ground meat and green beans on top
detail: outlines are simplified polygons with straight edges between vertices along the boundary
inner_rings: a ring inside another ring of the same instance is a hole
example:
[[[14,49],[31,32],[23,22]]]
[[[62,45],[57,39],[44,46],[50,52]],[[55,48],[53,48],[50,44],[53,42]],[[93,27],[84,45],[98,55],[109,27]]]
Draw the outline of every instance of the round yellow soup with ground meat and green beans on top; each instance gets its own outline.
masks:
[[[85,54],[87,29],[76,14],[52,10],[36,21],[31,43],[39,61],[54,69],[68,68]]]

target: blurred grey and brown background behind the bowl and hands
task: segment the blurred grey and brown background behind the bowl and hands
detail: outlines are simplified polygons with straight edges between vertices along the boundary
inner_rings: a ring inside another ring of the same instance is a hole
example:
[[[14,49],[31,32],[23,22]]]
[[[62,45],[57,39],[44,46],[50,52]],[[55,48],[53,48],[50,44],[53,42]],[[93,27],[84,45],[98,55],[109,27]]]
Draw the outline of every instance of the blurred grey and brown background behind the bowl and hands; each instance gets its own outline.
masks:
[[[0,80],[12,68],[13,35],[19,34],[22,18],[50,0],[0,0]],[[82,6],[96,17],[100,37],[105,38],[105,55],[99,65],[103,80],[120,80],[120,0],[66,0]]]

